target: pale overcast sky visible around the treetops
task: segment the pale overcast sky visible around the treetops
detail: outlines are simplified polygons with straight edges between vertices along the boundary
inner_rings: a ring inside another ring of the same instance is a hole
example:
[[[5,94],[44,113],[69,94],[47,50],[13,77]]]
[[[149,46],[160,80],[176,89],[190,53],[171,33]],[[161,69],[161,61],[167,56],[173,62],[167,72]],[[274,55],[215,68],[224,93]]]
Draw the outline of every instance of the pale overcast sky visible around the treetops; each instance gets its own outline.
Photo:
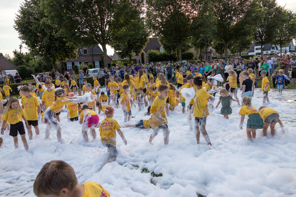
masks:
[[[23,0],[0,0],[0,53],[9,54],[12,56],[14,49],[19,50],[21,40],[18,38],[18,33],[14,30],[14,18],[18,12],[20,4]],[[286,5],[287,8],[296,12],[296,0],[277,0],[280,5]],[[27,52],[23,44],[23,52]],[[108,46],[107,54],[113,55],[114,50]]]

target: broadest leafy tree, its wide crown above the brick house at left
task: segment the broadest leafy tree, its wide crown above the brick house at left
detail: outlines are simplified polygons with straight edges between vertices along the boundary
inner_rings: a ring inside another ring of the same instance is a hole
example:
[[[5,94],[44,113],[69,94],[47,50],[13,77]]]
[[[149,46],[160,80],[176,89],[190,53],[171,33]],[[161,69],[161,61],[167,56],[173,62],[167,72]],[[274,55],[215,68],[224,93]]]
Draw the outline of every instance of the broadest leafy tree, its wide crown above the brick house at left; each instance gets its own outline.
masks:
[[[120,9],[124,4],[141,9],[143,0],[46,0],[44,6],[50,22],[73,42],[101,44],[103,63],[108,67],[106,45],[127,25],[120,23],[127,13]]]

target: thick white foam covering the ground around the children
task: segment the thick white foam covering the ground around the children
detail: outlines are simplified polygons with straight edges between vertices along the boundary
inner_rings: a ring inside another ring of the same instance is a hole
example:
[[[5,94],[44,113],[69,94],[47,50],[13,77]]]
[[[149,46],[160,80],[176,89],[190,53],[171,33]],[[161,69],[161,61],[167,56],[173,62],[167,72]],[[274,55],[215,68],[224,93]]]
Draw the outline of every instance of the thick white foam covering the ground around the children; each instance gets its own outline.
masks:
[[[262,131],[257,130],[254,142],[247,140],[246,119],[244,129],[239,130],[237,104],[232,103],[233,114],[229,121],[220,114],[220,105],[207,118],[206,129],[213,147],[206,145],[202,135],[201,144],[196,144],[193,131],[186,125],[186,115],[178,105],[168,117],[169,145],[163,144],[162,131],[149,144],[152,130],[122,128],[128,144],[125,146],[117,134],[117,160],[106,164],[102,170],[109,154],[102,147],[100,137],[84,142],[78,121],[67,122],[65,112],[61,114],[62,136],[66,141],[63,145],[57,142],[54,130],[51,139],[45,139],[45,125],[40,123],[40,135],[34,134],[29,141],[28,152],[20,137],[21,148],[14,149],[13,138],[5,132],[0,149],[0,196],[33,197],[37,173],[51,160],[71,164],[80,184],[88,180],[98,182],[112,197],[296,196],[295,94],[296,91],[284,90],[279,96],[276,90],[270,91],[268,106],[280,113],[286,132],[283,133],[278,124],[274,137],[270,132],[262,137]],[[219,94],[215,105],[218,99]],[[256,108],[261,106],[259,89],[252,102]],[[145,112],[132,108],[135,118],[130,123],[148,119]],[[99,116],[100,120],[104,119],[104,115]],[[121,109],[115,109],[114,118],[121,126],[126,124]]]

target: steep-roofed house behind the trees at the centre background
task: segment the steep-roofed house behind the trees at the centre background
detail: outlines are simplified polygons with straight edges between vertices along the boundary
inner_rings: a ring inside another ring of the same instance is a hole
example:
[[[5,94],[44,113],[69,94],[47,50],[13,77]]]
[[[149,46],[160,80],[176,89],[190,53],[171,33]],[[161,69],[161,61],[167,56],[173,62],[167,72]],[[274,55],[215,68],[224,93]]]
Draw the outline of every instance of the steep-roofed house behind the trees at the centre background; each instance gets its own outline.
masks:
[[[149,63],[147,60],[147,53],[149,50],[156,50],[156,51],[163,52],[163,47],[158,42],[158,38],[149,37],[149,41],[147,42],[145,49],[142,50],[142,53],[139,56],[136,56],[136,54],[134,54],[132,59],[136,59],[136,61],[137,61],[136,63],[138,63],[138,64]],[[118,56],[118,54],[116,52],[114,52],[114,54],[112,55],[112,60],[118,60],[118,59],[121,59],[121,58]],[[127,57],[124,59],[129,59],[129,58]]]

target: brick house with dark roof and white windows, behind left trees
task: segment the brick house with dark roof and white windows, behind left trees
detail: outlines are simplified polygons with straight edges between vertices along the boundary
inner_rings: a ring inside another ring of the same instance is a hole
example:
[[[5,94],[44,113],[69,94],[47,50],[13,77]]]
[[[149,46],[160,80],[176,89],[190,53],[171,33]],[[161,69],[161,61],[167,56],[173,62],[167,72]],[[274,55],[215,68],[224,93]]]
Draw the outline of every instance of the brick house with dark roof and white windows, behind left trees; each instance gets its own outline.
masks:
[[[80,64],[86,65],[93,64],[94,68],[102,67],[103,51],[99,45],[79,47],[77,50],[78,57],[75,60],[67,60],[64,63],[58,62],[58,65],[65,64],[67,70],[74,70],[73,66]],[[108,67],[111,67],[112,60],[107,56]]]

